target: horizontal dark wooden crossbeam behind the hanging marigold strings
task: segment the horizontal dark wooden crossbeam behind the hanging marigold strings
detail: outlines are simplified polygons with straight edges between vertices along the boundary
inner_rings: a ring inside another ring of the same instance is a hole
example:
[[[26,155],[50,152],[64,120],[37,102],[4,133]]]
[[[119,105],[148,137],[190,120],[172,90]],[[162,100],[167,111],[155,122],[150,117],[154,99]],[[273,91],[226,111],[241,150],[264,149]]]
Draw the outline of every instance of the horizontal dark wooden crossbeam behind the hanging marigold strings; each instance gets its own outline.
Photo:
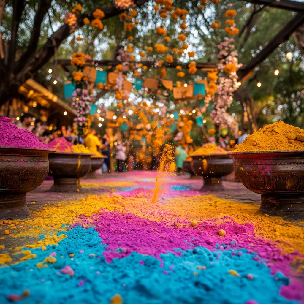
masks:
[[[61,67],[63,67],[65,69],[66,66],[71,65],[70,63],[71,60],[69,59],[57,59],[57,64],[59,64]],[[142,63],[143,65],[146,65],[147,67],[154,67],[155,66],[155,61],[141,61],[141,62],[135,62],[135,63]],[[188,68],[188,64],[190,62],[187,63],[178,63],[178,62],[172,62],[172,63],[168,63],[168,62],[164,62],[163,63],[163,67],[172,67],[175,68],[177,65],[180,65],[182,68],[187,69]],[[97,64],[98,66],[113,66],[115,67],[118,64],[121,64],[120,61],[118,60],[88,60],[86,62],[86,65],[92,65],[92,64]],[[211,70],[211,69],[215,69],[216,68],[216,63],[212,63],[212,62],[197,62],[196,63],[196,67],[198,69],[206,69],[206,70]]]

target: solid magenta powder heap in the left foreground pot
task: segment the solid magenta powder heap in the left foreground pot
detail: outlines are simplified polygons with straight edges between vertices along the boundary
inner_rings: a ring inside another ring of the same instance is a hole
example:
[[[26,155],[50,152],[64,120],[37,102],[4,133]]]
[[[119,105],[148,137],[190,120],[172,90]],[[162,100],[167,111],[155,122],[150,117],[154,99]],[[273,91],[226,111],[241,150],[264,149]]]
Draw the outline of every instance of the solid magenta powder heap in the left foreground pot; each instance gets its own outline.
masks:
[[[52,151],[47,143],[41,143],[29,130],[18,129],[5,116],[0,117],[0,147]]]

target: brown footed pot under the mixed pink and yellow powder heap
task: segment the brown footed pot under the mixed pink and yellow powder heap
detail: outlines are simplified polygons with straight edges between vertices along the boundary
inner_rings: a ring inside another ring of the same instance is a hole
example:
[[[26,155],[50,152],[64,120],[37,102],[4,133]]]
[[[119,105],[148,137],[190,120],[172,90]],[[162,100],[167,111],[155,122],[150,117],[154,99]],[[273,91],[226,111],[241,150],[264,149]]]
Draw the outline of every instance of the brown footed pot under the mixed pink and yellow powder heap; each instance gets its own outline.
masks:
[[[49,175],[54,177],[50,192],[79,192],[79,178],[91,169],[91,155],[84,153],[56,152],[49,155]]]

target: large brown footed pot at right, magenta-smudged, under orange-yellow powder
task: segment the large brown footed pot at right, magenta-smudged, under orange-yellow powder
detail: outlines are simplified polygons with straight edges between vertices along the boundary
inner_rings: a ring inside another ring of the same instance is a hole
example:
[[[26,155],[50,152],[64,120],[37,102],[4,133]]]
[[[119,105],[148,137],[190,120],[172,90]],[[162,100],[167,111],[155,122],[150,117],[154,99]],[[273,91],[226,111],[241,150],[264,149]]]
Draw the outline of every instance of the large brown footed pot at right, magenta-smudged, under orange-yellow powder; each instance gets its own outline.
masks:
[[[232,155],[236,177],[261,194],[261,212],[304,219],[304,151]]]

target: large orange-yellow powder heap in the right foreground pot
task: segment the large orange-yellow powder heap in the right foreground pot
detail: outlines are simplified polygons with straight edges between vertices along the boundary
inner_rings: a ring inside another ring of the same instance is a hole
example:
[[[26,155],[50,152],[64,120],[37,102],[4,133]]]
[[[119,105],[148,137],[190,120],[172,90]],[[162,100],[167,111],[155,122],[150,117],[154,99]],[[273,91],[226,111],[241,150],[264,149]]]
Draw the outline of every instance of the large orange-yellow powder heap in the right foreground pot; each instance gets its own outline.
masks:
[[[254,132],[230,153],[304,150],[304,130],[282,121]]]

